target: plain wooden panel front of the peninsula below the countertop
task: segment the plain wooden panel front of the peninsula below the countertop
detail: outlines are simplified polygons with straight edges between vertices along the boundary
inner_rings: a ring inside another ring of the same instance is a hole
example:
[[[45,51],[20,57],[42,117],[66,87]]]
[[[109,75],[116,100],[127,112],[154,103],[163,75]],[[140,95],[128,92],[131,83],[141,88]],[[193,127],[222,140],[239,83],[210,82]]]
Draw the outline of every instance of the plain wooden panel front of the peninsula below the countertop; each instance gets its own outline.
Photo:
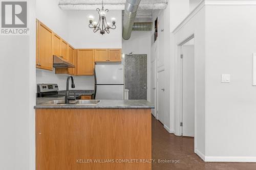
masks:
[[[37,170],[152,167],[132,159],[152,159],[151,109],[36,109]]]

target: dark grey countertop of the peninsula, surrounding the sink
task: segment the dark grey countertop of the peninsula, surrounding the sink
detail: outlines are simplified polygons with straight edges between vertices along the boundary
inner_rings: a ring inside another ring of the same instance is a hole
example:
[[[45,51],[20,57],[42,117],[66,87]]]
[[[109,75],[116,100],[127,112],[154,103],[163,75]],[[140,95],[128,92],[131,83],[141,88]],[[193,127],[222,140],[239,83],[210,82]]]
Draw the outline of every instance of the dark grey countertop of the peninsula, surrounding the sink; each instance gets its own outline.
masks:
[[[62,98],[37,98],[35,109],[154,109],[154,105],[146,100],[100,100],[97,105],[44,105],[42,103]]]

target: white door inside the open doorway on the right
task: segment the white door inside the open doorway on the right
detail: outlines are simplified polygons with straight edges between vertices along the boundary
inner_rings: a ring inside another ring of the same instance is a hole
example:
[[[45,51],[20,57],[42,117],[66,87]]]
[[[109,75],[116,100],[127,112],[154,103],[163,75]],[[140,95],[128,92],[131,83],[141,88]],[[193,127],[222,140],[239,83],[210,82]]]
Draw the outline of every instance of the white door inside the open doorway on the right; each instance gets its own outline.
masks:
[[[195,123],[195,70],[194,45],[183,45],[182,78],[182,135],[194,137]]]

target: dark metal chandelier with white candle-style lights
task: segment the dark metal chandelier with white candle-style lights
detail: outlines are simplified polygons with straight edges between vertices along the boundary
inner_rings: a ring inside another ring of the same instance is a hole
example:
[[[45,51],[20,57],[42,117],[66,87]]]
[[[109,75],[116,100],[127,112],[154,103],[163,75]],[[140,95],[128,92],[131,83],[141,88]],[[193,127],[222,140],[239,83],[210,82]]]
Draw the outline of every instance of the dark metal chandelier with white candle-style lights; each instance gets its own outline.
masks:
[[[108,9],[104,10],[103,7],[103,1],[102,1],[102,8],[99,9],[97,8],[96,11],[98,11],[99,13],[99,20],[94,21],[94,16],[93,15],[89,15],[88,19],[89,19],[89,28],[93,29],[93,32],[96,33],[97,31],[100,31],[100,34],[105,34],[106,33],[110,33],[110,29],[116,29],[116,18],[111,18],[112,21],[112,26],[110,26],[110,23],[106,20],[106,13],[109,12]]]

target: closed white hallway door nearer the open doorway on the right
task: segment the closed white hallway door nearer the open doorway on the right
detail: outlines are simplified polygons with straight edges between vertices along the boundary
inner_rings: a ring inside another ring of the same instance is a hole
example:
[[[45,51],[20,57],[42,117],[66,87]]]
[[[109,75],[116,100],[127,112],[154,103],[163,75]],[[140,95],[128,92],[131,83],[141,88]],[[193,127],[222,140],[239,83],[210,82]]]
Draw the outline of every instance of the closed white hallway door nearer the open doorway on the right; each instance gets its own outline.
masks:
[[[158,119],[164,124],[165,117],[165,71],[158,72]]]

